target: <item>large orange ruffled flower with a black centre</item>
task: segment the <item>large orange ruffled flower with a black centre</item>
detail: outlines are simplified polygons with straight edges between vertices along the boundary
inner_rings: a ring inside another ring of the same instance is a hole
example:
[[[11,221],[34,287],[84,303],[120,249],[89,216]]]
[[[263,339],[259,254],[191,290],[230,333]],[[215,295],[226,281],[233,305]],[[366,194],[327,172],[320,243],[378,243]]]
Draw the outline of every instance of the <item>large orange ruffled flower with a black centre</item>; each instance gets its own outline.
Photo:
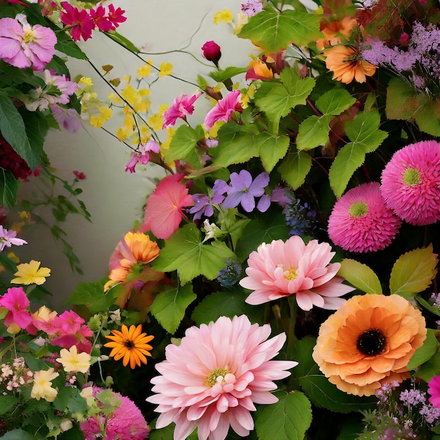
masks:
[[[410,377],[408,362],[426,338],[420,310],[399,295],[356,295],[325,321],[313,359],[348,394],[371,396]]]

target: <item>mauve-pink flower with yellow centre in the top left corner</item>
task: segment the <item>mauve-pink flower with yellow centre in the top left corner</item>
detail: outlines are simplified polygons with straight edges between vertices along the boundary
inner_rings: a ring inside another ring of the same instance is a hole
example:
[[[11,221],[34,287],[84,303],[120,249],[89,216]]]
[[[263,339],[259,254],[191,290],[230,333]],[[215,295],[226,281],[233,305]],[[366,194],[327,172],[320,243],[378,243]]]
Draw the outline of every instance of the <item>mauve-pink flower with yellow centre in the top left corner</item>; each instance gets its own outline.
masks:
[[[43,70],[55,53],[56,34],[48,27],[31,26],[26,15],[0,19],[0,58],[20,69]]]

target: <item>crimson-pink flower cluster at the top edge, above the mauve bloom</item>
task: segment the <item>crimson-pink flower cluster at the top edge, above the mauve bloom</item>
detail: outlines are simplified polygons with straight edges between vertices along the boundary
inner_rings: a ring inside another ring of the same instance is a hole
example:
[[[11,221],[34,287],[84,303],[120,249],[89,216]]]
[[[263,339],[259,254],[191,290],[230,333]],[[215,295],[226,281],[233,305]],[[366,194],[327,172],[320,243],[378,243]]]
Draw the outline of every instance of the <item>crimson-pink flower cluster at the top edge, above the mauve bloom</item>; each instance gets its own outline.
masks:
[[[60,20],[70,28],[74,41],[79,41],[81,38],[86,41],[91,38],[91,32],[96,27],[108,32],[115,30],[119,23],[127,20],[123,15],[125,11],[121,8],[115,9],[112,4],[108,8],[98,5],[95,9],[79,9],[67,1],[62,1],[61,6],[64,11],[60,12]]]

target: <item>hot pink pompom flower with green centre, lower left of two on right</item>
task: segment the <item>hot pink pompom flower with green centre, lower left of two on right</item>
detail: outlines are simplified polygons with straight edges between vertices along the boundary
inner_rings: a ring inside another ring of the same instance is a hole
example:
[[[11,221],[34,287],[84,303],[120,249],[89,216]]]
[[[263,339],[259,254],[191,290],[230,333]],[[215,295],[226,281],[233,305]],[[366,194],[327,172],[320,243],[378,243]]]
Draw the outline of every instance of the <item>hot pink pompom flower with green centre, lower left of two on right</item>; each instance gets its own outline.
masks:
[[[375,252],[392,242],[401,223],[382,198],[380,183],[363,183],[335,203],[328,218],[328,235],[349,252]]]

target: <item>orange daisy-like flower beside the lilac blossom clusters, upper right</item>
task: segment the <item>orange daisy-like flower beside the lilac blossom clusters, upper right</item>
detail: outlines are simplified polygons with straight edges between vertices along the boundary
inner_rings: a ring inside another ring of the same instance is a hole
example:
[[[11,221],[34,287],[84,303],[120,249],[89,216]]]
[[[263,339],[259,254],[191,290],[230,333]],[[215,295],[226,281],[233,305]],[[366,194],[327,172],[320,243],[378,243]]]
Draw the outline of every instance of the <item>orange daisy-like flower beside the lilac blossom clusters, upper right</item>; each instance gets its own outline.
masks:
[[[375,74],[376,66],[358,58],[356,48],[352,46],[332,46],[324,52],[325,65],[333,72],[333,79],[349,84],[356,79],[365,82],[366,77]]]

